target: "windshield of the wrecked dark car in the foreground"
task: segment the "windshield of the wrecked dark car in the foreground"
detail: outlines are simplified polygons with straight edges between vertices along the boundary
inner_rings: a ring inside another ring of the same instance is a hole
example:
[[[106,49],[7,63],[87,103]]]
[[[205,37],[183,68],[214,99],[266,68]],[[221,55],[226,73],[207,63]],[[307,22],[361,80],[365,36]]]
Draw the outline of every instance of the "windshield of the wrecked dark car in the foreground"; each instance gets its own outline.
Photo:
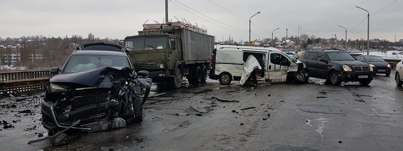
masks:
[[[63,73],[77,73],[101,67],[130,67],[125,56],[116,55],[73,55]]]

